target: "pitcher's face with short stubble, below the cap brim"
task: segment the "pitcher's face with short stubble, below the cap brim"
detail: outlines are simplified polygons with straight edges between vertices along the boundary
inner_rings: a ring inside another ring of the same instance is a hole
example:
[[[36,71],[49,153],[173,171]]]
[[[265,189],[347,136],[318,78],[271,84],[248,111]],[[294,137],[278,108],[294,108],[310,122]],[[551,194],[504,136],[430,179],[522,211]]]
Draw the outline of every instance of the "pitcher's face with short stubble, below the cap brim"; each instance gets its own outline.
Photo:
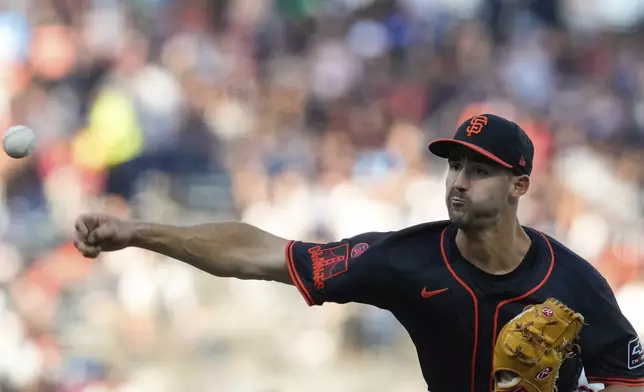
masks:
[[[512,202],[514,182],[508,169],[475,153],[455,152],[445,195],[452,223],[461,229],[493,226]]]

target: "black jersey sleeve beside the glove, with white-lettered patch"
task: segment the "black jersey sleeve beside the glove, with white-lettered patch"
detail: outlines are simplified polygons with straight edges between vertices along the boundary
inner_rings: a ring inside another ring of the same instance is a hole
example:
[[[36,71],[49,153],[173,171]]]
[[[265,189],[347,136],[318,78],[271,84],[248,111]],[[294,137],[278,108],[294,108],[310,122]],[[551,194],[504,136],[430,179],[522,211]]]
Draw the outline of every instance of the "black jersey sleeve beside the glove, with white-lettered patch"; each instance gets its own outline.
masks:
[[[642,342],[603,283],[593,301],[597,312],[586,317],[588,325],[580,334],[586,376],[590,383],[606,386],[644,386]]]

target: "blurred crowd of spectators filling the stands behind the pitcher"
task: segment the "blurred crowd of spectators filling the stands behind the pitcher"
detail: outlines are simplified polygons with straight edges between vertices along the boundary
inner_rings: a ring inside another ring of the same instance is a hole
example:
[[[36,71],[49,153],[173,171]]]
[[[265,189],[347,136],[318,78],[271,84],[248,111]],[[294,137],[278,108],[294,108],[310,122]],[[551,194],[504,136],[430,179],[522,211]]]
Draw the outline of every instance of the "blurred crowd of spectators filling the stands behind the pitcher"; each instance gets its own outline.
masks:
[[[643,21],[643,0],[0,1],[0,120],[39,137],[0,158],[0,391],[425,390],[384,312],[85,260],[70,233],[90,210],[308,240],[443,219],[426,143],[483,111],[536,144],[523,223],[644,332]]]

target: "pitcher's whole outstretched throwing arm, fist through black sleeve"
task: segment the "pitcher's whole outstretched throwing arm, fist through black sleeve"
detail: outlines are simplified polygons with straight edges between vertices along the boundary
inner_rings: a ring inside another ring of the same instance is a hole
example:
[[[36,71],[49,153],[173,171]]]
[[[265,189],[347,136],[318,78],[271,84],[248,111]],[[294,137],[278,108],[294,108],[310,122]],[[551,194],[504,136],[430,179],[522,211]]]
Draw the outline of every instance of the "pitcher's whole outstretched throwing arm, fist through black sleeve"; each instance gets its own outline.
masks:
[[[77,219],[74,243],[86,257],[133,246],[215,276],[291,284],[311,306],[361,302],[388,308],[397,296],[390,234],[320,244],[288,241],[240,222],[179,227],[89,214]]]

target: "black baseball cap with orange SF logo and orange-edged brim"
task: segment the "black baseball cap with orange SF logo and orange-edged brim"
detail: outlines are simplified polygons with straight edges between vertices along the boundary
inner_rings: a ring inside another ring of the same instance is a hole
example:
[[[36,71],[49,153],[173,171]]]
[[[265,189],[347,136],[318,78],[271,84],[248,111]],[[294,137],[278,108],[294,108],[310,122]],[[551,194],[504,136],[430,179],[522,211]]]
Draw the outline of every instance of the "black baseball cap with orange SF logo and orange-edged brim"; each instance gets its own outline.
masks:
[[[471,117],[458,127],[454,138],[431,142],[429,151],[449,158],[453,149],[459,146],[476,151],[517,174],[530,175],[532,172],[532,140],[517,123],[501,116],[485,113]]]

